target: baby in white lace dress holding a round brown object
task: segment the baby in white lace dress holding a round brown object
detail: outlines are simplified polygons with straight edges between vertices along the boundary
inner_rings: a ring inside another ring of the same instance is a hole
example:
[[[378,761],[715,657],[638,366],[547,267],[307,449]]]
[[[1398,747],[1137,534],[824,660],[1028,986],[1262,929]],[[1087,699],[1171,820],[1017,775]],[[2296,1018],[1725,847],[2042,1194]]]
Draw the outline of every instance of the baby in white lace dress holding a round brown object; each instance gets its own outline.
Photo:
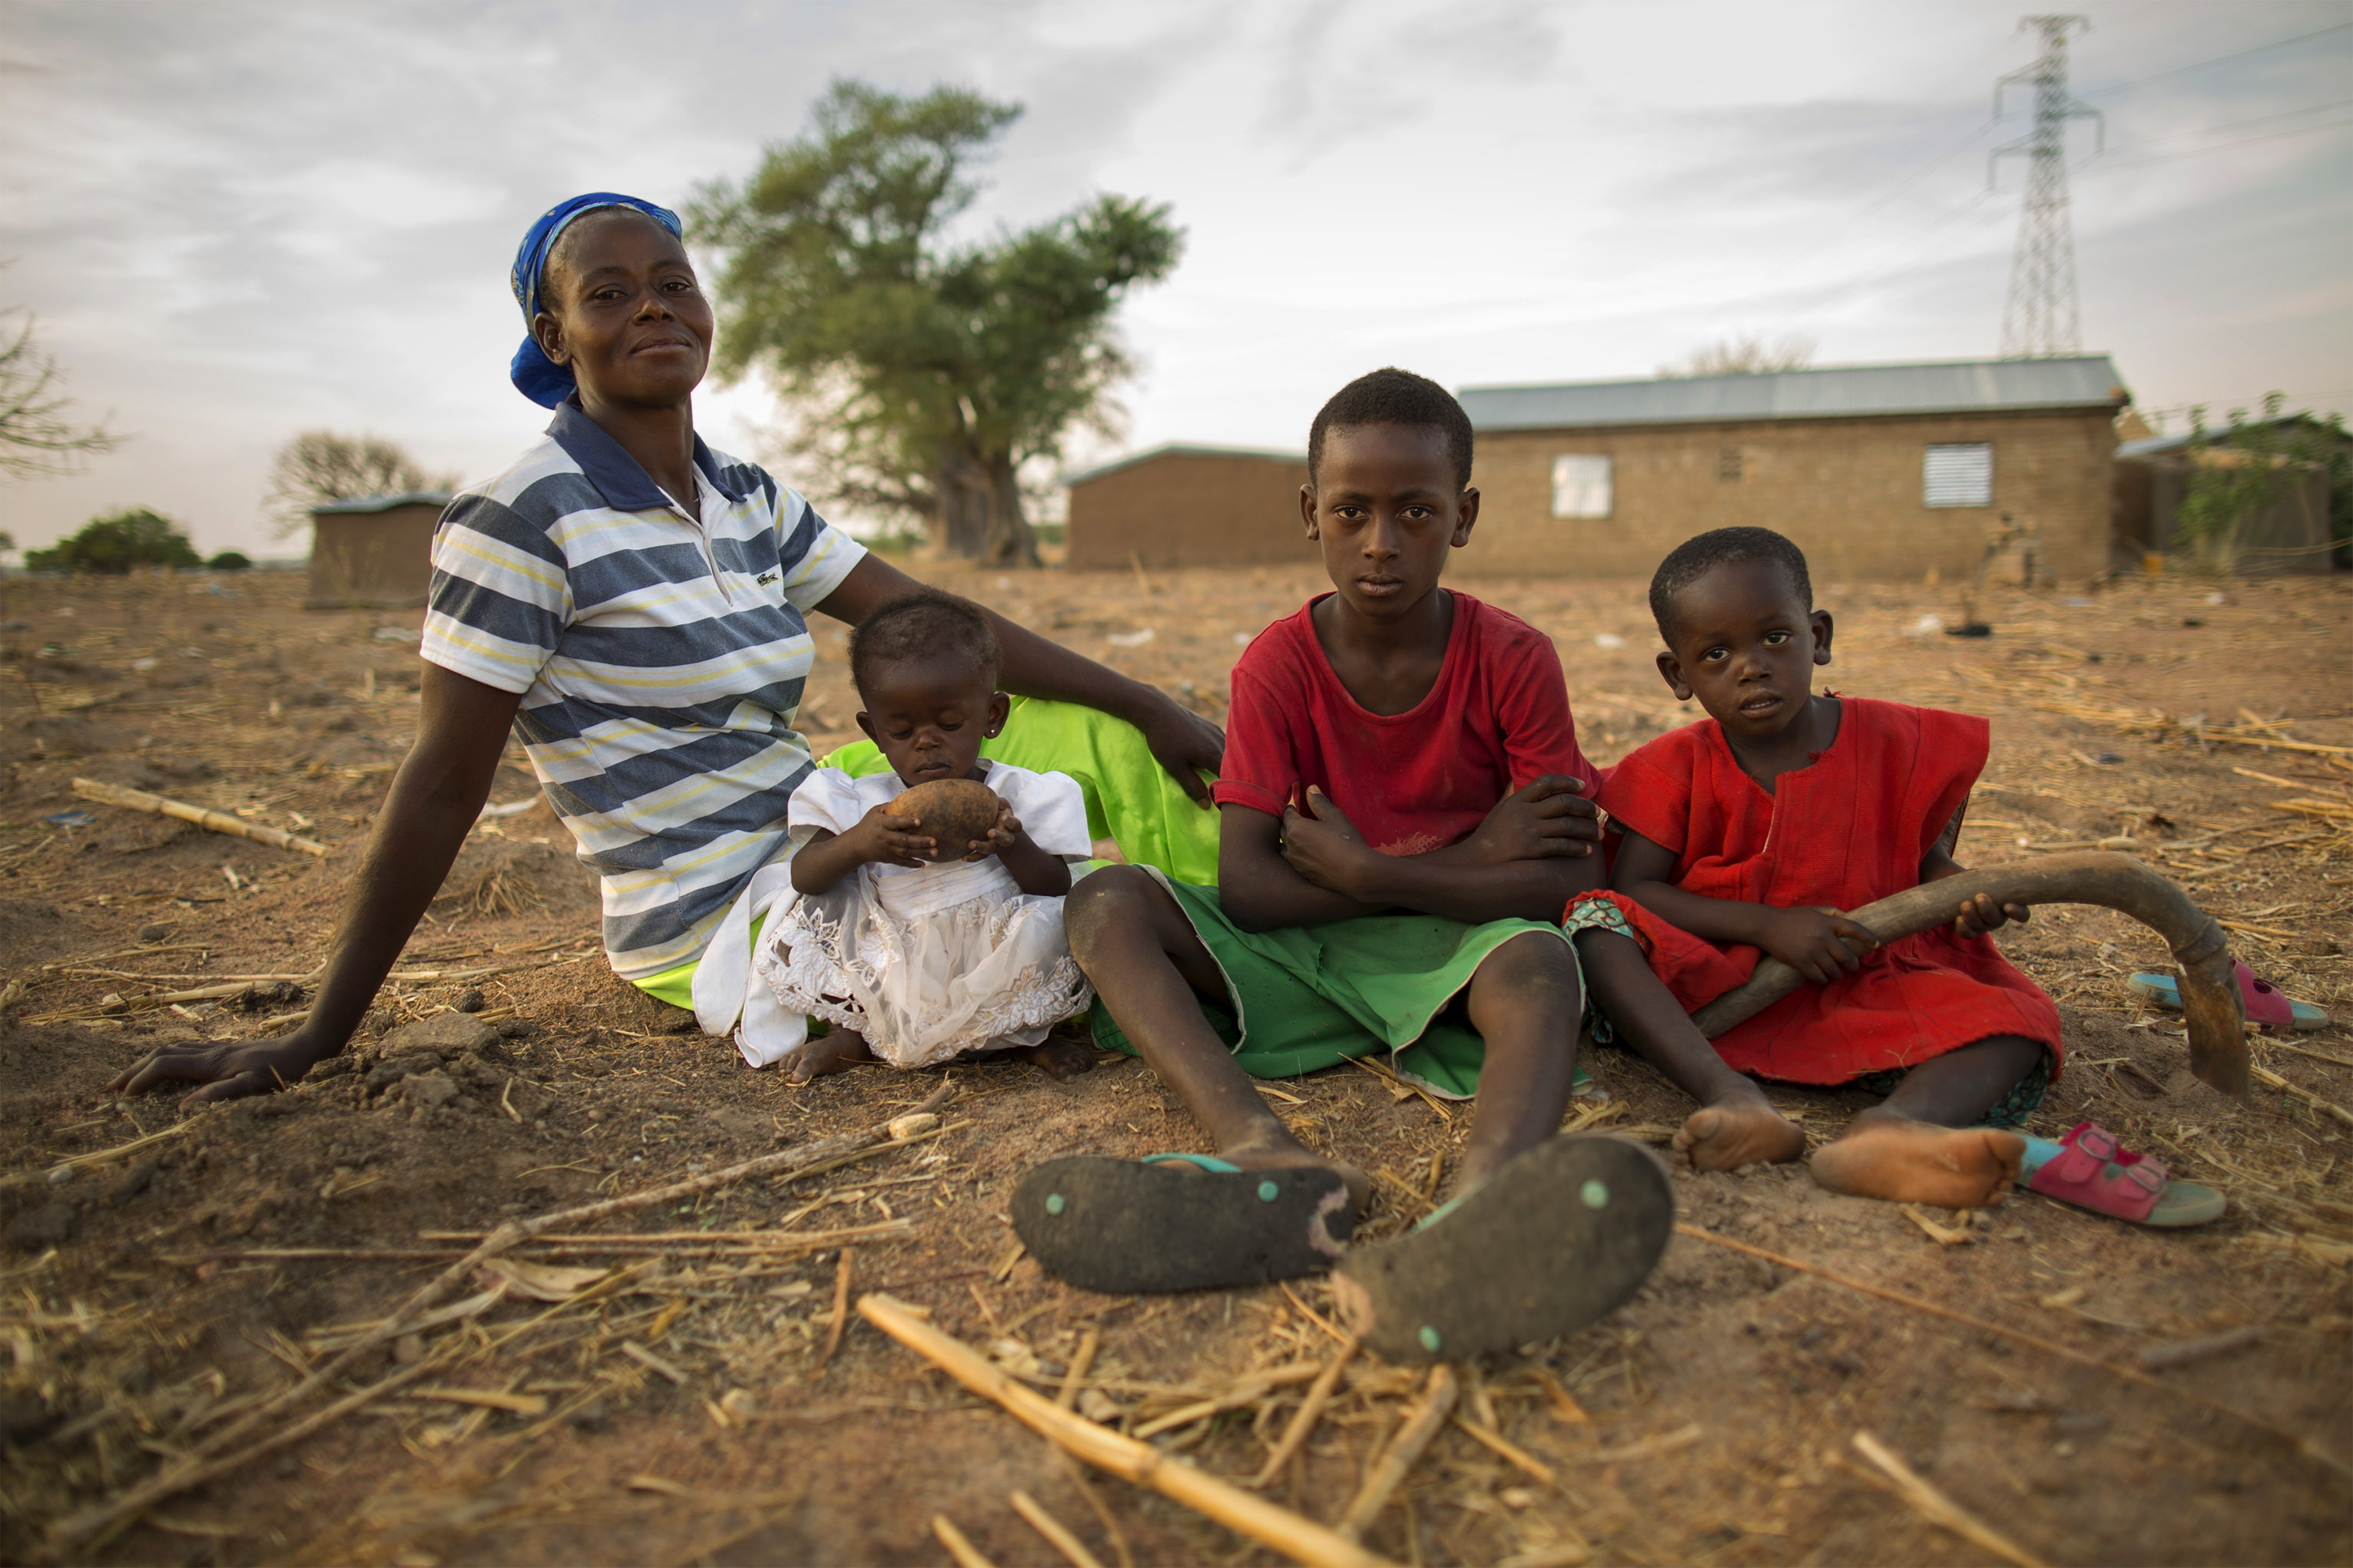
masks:
[[[1049,1030],[1092,999],[1061,931],[1071,860],[1089,856],[1087,802],[1068,773],[981,759],[1005,726],[998,639],[974,604],[925,590],[873,611],[849,639],[859,729],[889,773],[816,769],[788,811],[793,893],[760,931],[753,969],[791,1013],[833,1032],[800,1044],[786,1072],[880,1058],[929,1067],[965,1051],[1019,1051],[1054,1077],[1085,1072],[1085,1046]],[[998,823],[960,860],[892,816],[906,788],[986,783]]]

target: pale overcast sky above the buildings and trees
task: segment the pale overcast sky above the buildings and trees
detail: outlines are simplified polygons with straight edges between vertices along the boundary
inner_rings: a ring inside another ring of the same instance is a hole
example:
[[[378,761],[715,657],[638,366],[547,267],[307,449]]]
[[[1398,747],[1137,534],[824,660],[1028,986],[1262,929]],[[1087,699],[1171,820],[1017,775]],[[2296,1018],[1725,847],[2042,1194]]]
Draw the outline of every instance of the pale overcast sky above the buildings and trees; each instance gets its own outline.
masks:
[[[2144,409],[2353,407],[2353,5],[2092,0],[2073,143],[2082,346]],[[1911,0],[21,5],[0,0],[0,306],[132,440],[0,480],[21,545],[153,505],[273,552],[271,454],[381,433],[496,473],[522,228],[682,205],[833,75],[1028,115],[974,233],[1169,202],[1115,449],[1299,447],[1341,381],[1647,376],[1732,331],[1817,360],[1993,355],[2024,162],[1988,193],[2019,7]],[[765,451],[758,388],[706,390]],[[1075,456],[1101,456],[1094,447]],[[816,489],[809,475],[781,470]]]

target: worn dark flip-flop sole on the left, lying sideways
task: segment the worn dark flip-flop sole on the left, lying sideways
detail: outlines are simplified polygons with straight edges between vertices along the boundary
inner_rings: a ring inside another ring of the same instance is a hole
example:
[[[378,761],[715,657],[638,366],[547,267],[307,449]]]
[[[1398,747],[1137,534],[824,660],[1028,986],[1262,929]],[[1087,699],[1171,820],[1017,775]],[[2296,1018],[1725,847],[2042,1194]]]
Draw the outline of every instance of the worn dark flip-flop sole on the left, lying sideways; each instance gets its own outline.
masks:
[[[1186,1161],[1198,1171],[1158,1171]],[[1209,1154],[1049,1159],[1014,1187],[1014,1234],[1054,1279],[1106,1295],[1322,1274],[1355,1229],[1337,1171],[1242,1171]]]

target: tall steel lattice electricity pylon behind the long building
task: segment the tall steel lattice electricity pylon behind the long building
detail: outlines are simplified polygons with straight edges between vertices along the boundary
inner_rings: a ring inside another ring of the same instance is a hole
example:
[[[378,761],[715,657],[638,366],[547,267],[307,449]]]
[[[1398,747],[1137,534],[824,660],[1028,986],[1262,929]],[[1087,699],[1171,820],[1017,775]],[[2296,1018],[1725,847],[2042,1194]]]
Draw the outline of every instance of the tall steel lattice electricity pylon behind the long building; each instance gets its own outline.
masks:
[[[2002,113],[2002,89],[2035,89],[2035,129],[2009,146],[1993,148],[1986,160],[1986,183],[1995,162],[2026,153],[2026,205],[2019,207],[2019,249],[2009,259],[2009,301],[2002,306],[2002,357],[2047,360],[2082,348],[2082,322],[2075,315],[2075,235],[2068,226],[2066,195],[2066,122],[2097,120],[2099,146],[2108,146],[2108,120],[2066,89],[2066,40],[2075,28],[2089,31],[2082,16],[2021,16],[2019,31],[2040,28],[2042,54],[2033,66],[2012,71],[1993,85],[1993,115]]]

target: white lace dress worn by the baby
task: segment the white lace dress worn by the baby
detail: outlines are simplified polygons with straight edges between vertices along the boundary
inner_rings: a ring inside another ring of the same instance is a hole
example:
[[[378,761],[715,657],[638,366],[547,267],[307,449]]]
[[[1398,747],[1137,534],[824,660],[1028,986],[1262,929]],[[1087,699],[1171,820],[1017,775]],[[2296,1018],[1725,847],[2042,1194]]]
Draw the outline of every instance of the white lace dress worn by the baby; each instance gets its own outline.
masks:
[[[1038,849],[1087,858],[1075,778],[991,762],[986,783]],[[904,788],[896,773],[816,769],[793,790],[793,846],[819,827],[849,832]],[[760,931],[753,971],[786,1011],[856,1030],[894,1067],[1035,1046],[1094,997],[1061,933],[1061,898],[1024,893],[995,856],[861,865],[824,893],[788,893]]]

